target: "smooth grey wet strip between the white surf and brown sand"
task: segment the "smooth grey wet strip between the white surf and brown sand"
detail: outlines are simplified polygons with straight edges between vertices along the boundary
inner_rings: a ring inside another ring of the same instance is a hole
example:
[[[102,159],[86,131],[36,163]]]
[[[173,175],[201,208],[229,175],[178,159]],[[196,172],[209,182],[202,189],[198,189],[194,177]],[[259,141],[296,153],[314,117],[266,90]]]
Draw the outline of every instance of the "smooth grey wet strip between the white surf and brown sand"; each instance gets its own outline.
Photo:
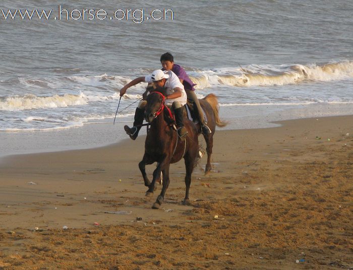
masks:
[[[269,109],[270,107],[270,109]],[[306,106],[222,106],[220,117],[228,121],[222,130],[242,130],[276,127],[273,122],[350,115],[353,104],[312,104]],[[113,119],[113,118],[112,118]],[[9,155],[90,149],[119,143],[128,136],[124,125],[132,123],[132,116],[115,125],[94,121],[81,127],[48,131],[0,132],[0,159]],[[146,134],[141,129],[141,134]]]

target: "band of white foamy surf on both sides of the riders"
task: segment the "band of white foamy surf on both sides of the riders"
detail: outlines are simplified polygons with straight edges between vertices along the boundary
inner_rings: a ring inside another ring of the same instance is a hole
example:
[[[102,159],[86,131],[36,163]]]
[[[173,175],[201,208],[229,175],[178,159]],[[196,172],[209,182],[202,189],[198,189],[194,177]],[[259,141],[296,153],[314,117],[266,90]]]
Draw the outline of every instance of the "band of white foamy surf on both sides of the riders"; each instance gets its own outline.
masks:
[[[344,105],[353,102],[351,91],[347,91],[353,78],[352,61],[324,65],[251,64],[242,67],[197,69],[188,73],[198,83],[198,98],[214,93],[223,107],[222,110],[235,110],[241,108],[239,106],[273,108],[270,106]],[[141,74],[131,77],[139,75]],[[79,127],[95,120],[113,118],[120,99],[119,90],[131,77],[98,74],[19,78],[19,87],[14,93],[32,94],[7,96],[7,93],[12,92],[4,88],[5,95],[0,98],[0,111],[3,111],[0,130],[52,130]],[[339,81],[334,82],[335,80]],[[312,83],[319,81],[338,87],[334,86],[332,92],[326,91],[328,86],[322,89],[323,83]],[[262,87],[263,85],[276,86]],[[340,85],[345,88],[339,87]],[[121,99],[120,111],[124,110],[117,118],[123,120],[124,117],[134,114],[137,103],[133,103],[142,97],[145,86],[146,84],[140,83],[129,88],[128,94]],[[44,96],[46,93],[53,94]],[[58,109],[51,110],[52,108]],[[124,121],[130,118],[125,118]]]

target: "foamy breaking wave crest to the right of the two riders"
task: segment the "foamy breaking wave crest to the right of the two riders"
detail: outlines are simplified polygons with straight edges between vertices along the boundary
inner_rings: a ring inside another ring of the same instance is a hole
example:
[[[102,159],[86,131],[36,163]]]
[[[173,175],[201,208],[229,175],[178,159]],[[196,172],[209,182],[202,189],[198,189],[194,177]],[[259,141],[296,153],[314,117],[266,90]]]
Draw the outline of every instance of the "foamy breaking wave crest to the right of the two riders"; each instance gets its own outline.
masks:
[[[218,68],[215,70],[195,71],[190,76],[197,89],[216,85],[260,86],[286,85],[306,81],[330,81],[353,78],[353,62],[343,61],[295,65],[249,65],[243,68]]]

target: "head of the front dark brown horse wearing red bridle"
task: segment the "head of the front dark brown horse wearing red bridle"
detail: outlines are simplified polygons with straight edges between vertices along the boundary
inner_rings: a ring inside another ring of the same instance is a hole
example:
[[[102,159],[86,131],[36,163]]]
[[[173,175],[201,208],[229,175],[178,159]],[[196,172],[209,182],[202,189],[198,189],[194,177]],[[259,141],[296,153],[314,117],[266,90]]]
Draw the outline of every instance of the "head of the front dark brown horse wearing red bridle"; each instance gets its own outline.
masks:
[[[145,120],[151,123],[164,109],[165,91],[154,90],[146,98]]]

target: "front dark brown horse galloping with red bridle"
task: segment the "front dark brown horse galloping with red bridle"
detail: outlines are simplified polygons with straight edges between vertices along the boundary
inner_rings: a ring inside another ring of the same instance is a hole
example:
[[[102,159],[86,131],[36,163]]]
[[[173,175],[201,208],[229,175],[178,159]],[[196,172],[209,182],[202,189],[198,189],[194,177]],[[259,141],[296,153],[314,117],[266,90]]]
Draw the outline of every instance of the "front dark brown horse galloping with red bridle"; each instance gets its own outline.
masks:
[[[191,174],[194,169],[195,159],[198,155],[199,142],[198,130],[194,123],[188,119],[184,120],[188,136],[185,140],[180,140],[177,131],[169,124],[170,122],[164,113],[165,97],[159,92],[151,92],[147,96],[145,108],[145,120],[150,123],[145,141],[145,154],[139,163],[145,186],[148,187],[146,196],[153,195],[156,181],[160,181],[163,173],[163,188],[152,208],[158,209],[164,200],[165,192],[169,186],[169,166],[178,162],[182,158],[185,161],[186,193],[183,204],[189,203],[189,189],[191,184]],[[158,162],[157,168],[153,171],[152,183],[146,174],[146,164]]]

